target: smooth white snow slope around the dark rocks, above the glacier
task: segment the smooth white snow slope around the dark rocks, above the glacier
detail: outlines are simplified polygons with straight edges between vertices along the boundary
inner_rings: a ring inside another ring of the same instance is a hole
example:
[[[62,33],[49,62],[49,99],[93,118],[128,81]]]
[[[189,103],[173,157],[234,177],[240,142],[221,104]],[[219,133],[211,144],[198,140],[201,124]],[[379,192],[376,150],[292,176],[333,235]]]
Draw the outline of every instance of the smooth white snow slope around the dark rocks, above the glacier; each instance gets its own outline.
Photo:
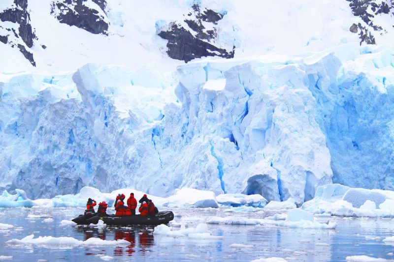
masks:
[[[347,0],[107,0],[103,17],[109,24],[108,35],[102,35],[59,23],[51,14],[51,3],[58,1],[28,0],[31,26],[38,39],[32,48],[25,48],[33,53],[36,68],[17,49],[0,43],[1,72],[57,73],[91,62],[126,65],[133,70],[145,63],[162,70],[175,69],[184,62],[168,58],[166,41],[157,30],[173,21],[189,29],[183,19],[193,3],[226,14],[217,25],[217,43],[226,48],[235,46],[235,58],[272,52],[294,55],[360,42],[358,33],[349,28],[353,23],[364,25],[352,14]],[[11,4],[12,0],[2,0],[0,12]],[[375,23],[384,26],[386,32],[376,34],[378,43],[388,43],[394,35],[392,26],[385,26],[391,21],[387,17],[376,18]],[[14,28],[13,23],[7,23]],[[15,30],[18,32],[17,27]],[[16,41],[13,34],[9,41]]]

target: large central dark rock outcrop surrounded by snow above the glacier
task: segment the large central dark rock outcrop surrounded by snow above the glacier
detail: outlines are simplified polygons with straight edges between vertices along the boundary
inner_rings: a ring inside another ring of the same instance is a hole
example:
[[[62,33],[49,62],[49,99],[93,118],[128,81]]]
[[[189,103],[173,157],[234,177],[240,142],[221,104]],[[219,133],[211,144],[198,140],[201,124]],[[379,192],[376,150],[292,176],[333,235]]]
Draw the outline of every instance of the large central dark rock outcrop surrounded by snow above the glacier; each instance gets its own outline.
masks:
[[[168,40],[168,56],[185,62],[201,57],[233,58],[235,47],[228,51],[216,44],[218,21],[224,15],[210,9],[201,12],[200,6],[194,4],[183,22],[174,21],[158,32]],[[206,28],[207,24],[211,27]]]

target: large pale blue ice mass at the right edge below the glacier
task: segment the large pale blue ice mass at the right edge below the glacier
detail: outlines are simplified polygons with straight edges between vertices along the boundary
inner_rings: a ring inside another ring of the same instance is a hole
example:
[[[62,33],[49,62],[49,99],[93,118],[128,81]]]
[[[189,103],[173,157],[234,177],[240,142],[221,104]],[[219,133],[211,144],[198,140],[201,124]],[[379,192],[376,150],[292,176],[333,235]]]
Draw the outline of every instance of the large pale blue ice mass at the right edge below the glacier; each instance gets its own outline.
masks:
[[[318,187],[315,198],[301,208],[315,214],[394,217],[394,191],[329,184]]]

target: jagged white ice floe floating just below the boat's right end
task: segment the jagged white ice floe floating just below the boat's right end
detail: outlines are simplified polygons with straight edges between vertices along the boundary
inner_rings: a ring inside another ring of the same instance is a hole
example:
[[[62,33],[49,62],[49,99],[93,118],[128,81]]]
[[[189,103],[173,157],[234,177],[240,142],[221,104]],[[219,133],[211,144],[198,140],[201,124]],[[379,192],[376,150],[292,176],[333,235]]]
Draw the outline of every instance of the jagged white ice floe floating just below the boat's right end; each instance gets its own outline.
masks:
[[[200,223],[196,228],[186,228],[185,225],[181,225],[179,230],[173,230],[172,227],[166,225],[159,225],[155,228],[154,234],[162,234],[168,236],[187,236],[195,239],[222,239],[223,236],[211,235],[207,224]]]

